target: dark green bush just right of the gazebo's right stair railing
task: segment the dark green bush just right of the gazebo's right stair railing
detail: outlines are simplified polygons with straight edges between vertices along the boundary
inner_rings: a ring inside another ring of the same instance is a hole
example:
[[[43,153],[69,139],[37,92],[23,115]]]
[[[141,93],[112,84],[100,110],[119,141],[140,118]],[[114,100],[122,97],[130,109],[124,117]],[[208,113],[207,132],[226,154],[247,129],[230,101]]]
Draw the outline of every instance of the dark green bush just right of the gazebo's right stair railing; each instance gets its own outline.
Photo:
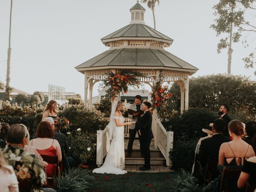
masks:
[[[190,108],[162,122],[166,129],[174,132],[174,146],[169,154],[175,168],[192,168],[196,144],[199,138],[206,136],[202,128],[208,127],[216,118],[217,114],[209,110]]]

